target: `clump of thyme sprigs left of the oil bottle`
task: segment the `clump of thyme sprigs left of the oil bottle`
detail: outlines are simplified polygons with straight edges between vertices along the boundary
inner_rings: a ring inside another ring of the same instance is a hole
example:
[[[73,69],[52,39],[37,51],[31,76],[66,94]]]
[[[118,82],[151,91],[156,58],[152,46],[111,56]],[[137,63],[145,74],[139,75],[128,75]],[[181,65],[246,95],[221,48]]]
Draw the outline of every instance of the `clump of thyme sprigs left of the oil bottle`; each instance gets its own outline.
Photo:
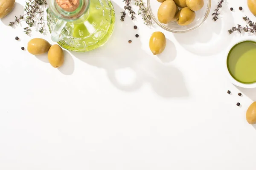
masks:
[[[13,26],[15,23],[19,24],[21,20],[26,16],[26,24],[27,26],[24,28],[25,34],[29,34],[31,31],[31,27],[35,26],[35,17],[39,14],[38,24],[41,25],[39,28],[39,32],[42,34],[44,32],[44,11],[40,9],[42,5],[47,5],[46,0],[27,0],[24,11],[26,14],[20,15],[19,17],[15,16],[15,21],[9,22],[9,26]]]

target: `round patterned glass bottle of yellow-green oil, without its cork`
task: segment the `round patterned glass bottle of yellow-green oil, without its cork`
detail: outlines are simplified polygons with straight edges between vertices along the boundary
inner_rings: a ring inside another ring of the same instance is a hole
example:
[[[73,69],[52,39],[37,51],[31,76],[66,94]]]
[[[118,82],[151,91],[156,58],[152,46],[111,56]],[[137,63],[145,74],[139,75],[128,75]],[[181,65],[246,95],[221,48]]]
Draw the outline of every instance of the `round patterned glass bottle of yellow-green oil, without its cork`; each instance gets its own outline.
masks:
[[[115,11],[110,0],[78,0],[70,11],[61,8],[59,0],[49,0],[47,25],[52,40],[70,51],[91,51],[105,44],[115,23]]]

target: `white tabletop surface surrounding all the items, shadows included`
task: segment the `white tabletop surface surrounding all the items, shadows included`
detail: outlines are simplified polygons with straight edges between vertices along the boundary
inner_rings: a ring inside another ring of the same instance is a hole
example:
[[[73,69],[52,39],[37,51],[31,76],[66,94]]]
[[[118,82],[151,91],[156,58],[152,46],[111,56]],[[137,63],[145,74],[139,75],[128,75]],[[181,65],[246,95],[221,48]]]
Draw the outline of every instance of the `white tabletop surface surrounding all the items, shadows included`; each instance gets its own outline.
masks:
[[[20,50],[35,37],[54,43],[49,32],[25,35],[24,22],[8,26],[23,14],[24,0],[16,2],[0,21],[0,170],[256,169],[256,129],[245,119],[256,90],[235,87],[222,71],[240,37],[227,30],[244,26],[245,15],[256,21],[247,0],[225,2],[217,22],[213,0],[206,22],[186,34],[148,28],[140,17],[121,22],[124,2],[113,0],[108,43],[65,52],[59,69]],[[158,57],[148,48],[154,31],[168,39]]]

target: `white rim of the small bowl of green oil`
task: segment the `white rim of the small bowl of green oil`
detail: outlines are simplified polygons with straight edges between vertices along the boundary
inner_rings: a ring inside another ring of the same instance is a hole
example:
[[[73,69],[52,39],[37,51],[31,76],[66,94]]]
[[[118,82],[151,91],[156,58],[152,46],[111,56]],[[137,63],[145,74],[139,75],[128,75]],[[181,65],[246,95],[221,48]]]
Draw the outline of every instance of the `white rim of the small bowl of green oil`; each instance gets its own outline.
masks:
[[[244,83],[241,83],[239,81],[237,81],[236,79],[234,79],[229,70],[228,70],[228,67],[227,67],[227,57],[228,57],[228,54],[230,53],[230,50],[237,44],[239,44],[240,42],[245,42],[245,41],[253,41],[256,43],[256,40],[253,39],[253,38],[250,38],[250,37],[239,37],[235,42],[231,43],[229,45],[229,47],[227,48],[227,51],[225,52],[225,57],[224,57],[224,73],[225,73],[225,76],[230,80],[230,82],[233,84],[233,85],[236,85],[236,86],[239,86],[241,88],[256,88],[256,82],[253,82],[253,83],[250,83],[250,84],[244,84]]]

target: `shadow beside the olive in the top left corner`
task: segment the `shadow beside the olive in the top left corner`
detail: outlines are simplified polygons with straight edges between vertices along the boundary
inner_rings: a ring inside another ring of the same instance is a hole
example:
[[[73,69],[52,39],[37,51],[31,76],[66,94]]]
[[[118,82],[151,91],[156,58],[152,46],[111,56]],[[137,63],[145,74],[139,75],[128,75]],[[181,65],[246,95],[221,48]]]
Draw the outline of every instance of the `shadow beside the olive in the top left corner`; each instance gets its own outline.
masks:
[[[24,7],[20,3],[15,3],[14,8],[12,11],[5,17],[1,19],[4,25],[9,26],[10,22],[15,21],[15,16],[19,17],[20,15],[24,14]],[[22,26],[22,23],[15,23],[12,28],[16,28],[18,25]]]

